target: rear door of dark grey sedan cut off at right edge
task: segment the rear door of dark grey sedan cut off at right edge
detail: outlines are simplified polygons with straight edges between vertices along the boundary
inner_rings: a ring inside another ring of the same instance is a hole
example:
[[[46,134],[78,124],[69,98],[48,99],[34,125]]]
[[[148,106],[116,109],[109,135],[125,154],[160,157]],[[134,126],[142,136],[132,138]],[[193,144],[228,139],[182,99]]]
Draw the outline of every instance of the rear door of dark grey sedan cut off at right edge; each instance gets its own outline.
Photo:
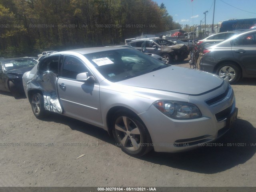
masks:
[[[234,58],[240,61],[247,74],[256,75],[256,32],[238,36],[232,44]]]

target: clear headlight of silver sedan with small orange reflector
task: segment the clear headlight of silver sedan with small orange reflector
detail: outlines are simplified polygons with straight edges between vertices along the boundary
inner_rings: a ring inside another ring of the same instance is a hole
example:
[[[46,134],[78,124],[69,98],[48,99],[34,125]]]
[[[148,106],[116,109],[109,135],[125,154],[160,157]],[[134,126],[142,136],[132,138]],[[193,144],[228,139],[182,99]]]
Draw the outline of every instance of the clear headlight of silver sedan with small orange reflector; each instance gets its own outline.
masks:
[[[179,101],[160,100],[153,105],[163,114],[174,119],[190,119],[202,116],[194,104]]]

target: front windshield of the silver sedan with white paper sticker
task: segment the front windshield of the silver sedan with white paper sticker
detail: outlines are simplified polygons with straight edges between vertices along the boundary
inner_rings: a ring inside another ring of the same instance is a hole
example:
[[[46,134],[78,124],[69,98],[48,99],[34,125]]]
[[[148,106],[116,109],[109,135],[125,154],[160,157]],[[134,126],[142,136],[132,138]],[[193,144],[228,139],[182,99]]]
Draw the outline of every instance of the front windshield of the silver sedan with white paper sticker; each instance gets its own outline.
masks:
[[[170,66],[132,49],[96,52],[84,56],[111,82],[126,80]]]

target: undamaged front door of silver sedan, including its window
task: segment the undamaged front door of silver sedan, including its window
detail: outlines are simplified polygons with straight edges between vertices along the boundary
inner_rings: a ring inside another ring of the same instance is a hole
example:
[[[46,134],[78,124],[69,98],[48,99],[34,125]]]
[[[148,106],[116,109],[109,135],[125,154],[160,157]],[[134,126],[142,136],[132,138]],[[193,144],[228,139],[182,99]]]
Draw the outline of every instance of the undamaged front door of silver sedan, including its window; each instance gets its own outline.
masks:
[[[92,73],[84,62],[74,56],[64,56],[57,82],[58,94],[64,114],[94,125],[102,124],[100,111],[100,85],[76,80],[82,72]]]

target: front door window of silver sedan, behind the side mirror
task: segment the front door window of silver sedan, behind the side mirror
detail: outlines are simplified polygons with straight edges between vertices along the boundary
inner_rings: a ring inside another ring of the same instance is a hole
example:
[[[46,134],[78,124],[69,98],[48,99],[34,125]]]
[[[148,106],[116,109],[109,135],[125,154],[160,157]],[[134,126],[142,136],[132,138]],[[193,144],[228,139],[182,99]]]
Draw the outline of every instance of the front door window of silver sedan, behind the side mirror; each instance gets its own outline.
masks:
[[[80,60],[70,56],[64,58],[62,77],[76,80],[76,76],[83,72],[89,72],[89,70]]]

